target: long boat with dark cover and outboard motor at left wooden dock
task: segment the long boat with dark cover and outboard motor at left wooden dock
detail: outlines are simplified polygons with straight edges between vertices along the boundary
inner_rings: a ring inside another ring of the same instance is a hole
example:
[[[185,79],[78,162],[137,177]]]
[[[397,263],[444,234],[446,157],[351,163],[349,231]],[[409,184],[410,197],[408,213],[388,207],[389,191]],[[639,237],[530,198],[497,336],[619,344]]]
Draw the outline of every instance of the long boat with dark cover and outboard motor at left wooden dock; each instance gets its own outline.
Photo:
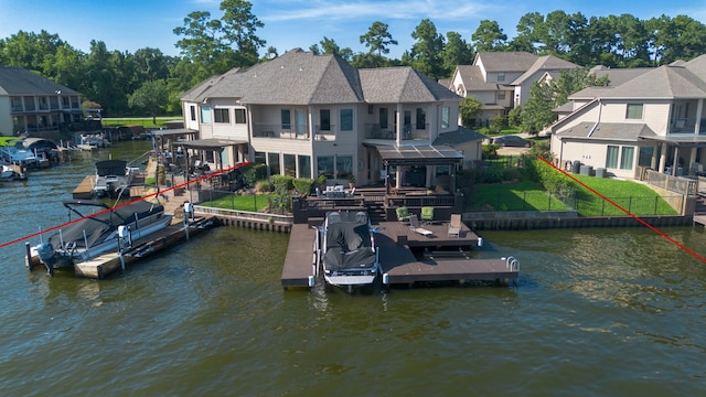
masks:
[[[50,273],[53,269],[72,267],[75,262],[128,247],[132,240],[159,232],[172,221],[172,215],[164,214],[161,204],[147,201],[117,207],[96,201],[67,201],[64,206],[79,218],[31,248],[31,256],[38,256]],[[87,208],[99,211],[84,216],[79,210],[85,213]]]

